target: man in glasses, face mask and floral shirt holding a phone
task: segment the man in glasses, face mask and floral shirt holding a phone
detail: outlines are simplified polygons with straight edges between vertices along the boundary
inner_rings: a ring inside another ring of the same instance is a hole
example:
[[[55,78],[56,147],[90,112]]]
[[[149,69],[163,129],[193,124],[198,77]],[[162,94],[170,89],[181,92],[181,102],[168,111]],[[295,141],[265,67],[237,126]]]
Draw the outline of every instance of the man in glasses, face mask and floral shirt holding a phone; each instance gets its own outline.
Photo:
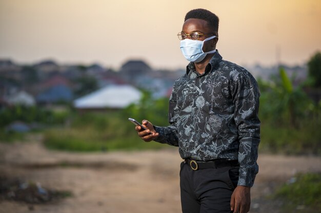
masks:
[[[248,212],[258,172],[257,83],[243,67],[222,60],[218,17],[210,11],[189,11],[178,38],[190,63],[173,86],[170,126],[144,120],[147,130],[136,131],[145,141],[179,147],[184,213]]]

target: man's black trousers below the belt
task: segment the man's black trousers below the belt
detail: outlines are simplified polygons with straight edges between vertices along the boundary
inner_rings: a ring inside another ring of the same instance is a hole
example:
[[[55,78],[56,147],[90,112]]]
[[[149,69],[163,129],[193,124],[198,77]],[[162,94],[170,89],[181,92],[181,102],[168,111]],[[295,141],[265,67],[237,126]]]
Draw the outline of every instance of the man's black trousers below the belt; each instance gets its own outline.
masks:
[[[239,167],[192,170],[180,164],[180,200],[183,213],[230,213]]]

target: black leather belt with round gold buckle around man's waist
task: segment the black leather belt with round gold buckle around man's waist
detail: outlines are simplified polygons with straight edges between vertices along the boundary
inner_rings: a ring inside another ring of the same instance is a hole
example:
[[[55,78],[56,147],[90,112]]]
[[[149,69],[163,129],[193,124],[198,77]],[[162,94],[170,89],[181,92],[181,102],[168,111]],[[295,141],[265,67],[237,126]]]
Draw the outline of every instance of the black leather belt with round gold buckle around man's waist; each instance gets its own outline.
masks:
[[[185,163],[188,163],[192,170],[202,170],[202,169],[213,169],[222,167],[237,167],[238,160],[223,160],[217,159],[212,161],[198,161],[192,159],[185,159]]]

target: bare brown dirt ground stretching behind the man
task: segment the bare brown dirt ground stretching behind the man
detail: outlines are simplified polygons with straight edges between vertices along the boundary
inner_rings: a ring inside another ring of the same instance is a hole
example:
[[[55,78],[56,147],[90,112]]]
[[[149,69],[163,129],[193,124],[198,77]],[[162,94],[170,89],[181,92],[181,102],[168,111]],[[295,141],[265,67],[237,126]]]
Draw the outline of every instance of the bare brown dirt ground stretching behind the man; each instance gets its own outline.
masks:
[[[43,204],[0,200],[0,212],[181,212],[182,159],[176,149],[68,153],[47,150],[40,141],[39,137],[29,143],[0,144],[0,174],[67,190],[72,196]],[[252,213],[278,212],[280,204],[266,199],[275,186],[298,172],[321,172],[320,157],[260,154],[258,164]]]

